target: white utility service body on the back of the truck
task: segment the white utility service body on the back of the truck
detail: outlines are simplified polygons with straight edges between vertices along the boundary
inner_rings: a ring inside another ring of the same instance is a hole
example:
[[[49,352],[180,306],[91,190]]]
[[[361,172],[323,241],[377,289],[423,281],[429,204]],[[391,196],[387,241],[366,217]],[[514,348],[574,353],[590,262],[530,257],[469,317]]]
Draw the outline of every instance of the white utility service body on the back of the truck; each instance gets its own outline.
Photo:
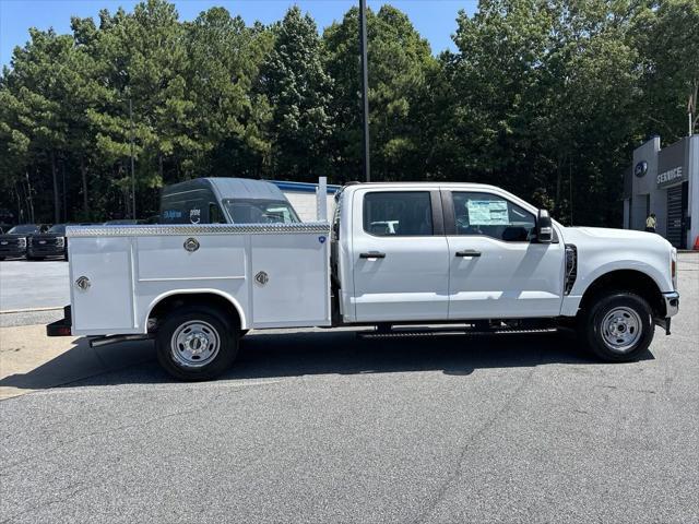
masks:
[[[242,330],[331,323],[330,226],[68,227],[73,335],[146,333],[176,294],[229,300]]]

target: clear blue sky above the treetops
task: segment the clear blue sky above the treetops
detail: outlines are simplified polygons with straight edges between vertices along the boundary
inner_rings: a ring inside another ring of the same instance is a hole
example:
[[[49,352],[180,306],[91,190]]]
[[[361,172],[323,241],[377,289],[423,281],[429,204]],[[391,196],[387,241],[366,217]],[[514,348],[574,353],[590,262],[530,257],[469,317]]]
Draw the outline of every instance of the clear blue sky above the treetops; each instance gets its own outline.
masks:
[[[170,0],[173,1],[173,0]],[[378,10],[391,3],[405,12],[419,34],[427,38],[433,52],[454,49],[451,35],[457,29],[457,13],[465,10],[472,14],[477,0],[367,0],[369,8]],[[9,66],[12,50],[28,39],[28,28],[70,32],[70,17],[93,16],[106,8],[116,11],[120,5],[131,11],[135,0],[0,0],[0,64]],[[251,24],[256,20],[264,24],[277,21],[294,4],[310,13],[322,29],[343,14],[358,0],[174,0],[180,20],[192,20],[213,5],[222,5],[232,14],[239,14]]]

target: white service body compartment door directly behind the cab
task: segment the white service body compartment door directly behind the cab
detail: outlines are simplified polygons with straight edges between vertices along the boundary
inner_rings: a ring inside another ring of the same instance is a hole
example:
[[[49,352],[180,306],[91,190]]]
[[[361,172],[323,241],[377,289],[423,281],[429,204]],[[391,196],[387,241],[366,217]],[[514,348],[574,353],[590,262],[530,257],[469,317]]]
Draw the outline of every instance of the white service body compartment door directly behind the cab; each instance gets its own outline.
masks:
[[[251,235],[252,326],[330,325],[327,234]]]

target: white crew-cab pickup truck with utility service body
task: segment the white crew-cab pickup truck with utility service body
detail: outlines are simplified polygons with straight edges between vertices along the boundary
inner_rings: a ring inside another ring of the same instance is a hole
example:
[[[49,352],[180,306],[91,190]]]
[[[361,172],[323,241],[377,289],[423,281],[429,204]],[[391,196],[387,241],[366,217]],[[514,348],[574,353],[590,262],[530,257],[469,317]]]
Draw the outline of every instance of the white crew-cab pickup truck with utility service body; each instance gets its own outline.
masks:
[[[355,183],[336,203],[332,224],[69,227],[71,307],[47,334],[155,338],[170,374],[203,380],[272,327],[564,326],[627,361],[679,307],[654,234],[564,227],[472,183]]]

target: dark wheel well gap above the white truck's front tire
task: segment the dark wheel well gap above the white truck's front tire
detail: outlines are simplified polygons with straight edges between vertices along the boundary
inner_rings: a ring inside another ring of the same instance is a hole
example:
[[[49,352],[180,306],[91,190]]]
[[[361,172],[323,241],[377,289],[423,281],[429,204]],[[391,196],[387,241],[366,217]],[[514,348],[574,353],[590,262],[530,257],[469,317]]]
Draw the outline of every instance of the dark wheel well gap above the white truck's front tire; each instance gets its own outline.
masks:
[[[665,318],[665,300],[655,281],[635,270],[618,270],[605,273],[594,281],[582,296],[580,309],[585,309],[596,297],[609,291],[631,291],[648,300],[653,315]]]

